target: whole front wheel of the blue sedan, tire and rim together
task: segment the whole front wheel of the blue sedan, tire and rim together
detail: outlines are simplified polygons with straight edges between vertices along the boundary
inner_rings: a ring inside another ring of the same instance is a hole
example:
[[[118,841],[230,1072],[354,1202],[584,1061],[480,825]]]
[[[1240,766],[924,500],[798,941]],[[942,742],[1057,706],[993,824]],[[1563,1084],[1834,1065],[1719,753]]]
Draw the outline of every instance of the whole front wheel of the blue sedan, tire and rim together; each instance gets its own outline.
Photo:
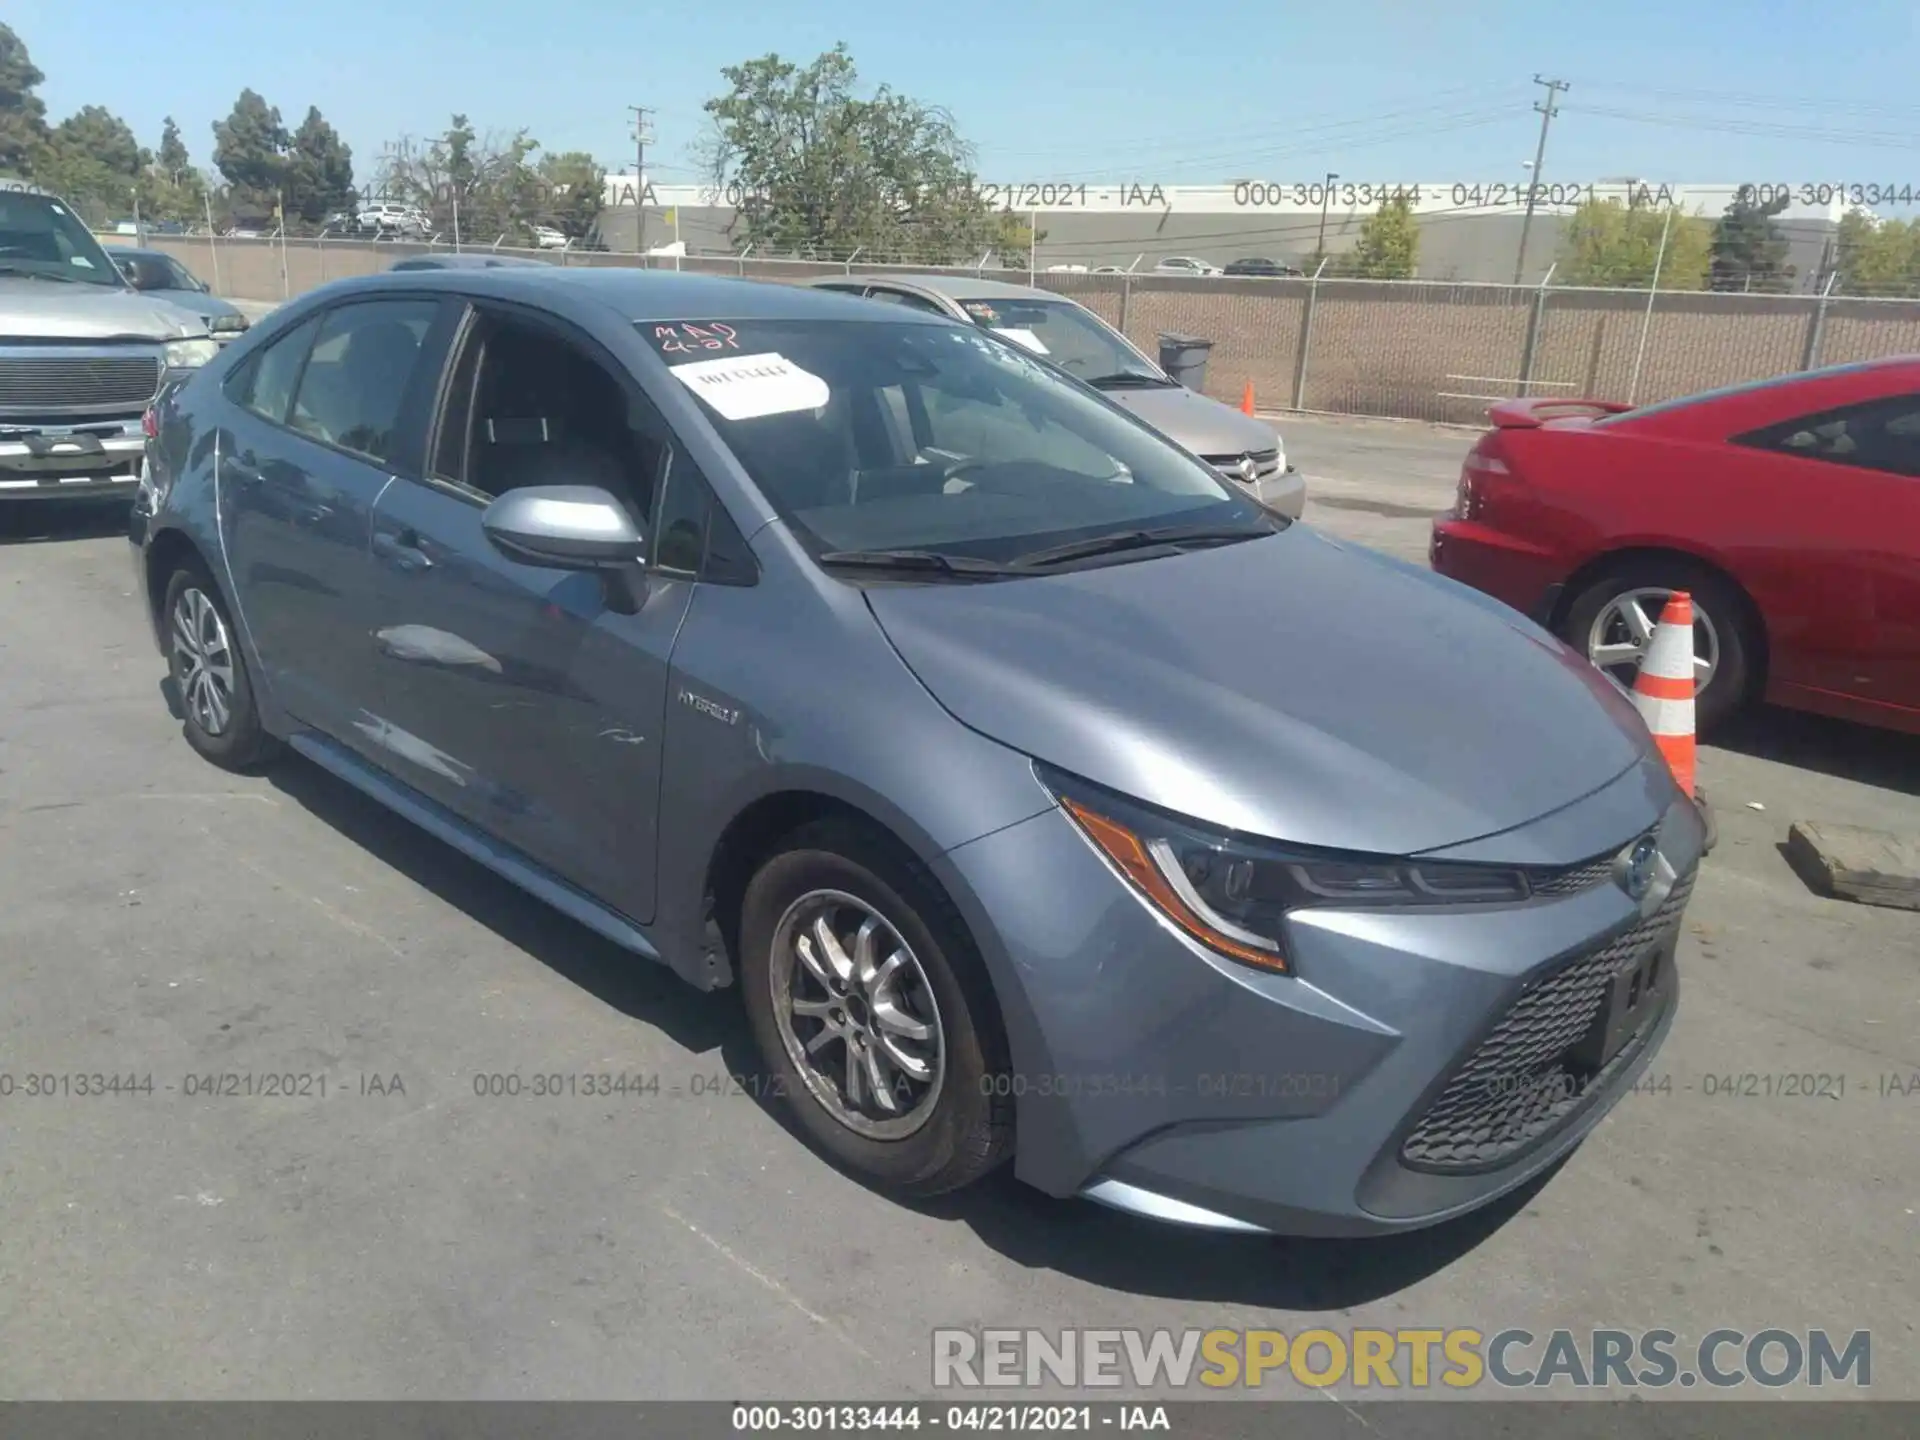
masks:
[[[747,885],[739,945],[770,1089],[818,1150],[912,1196],[1006,1160],[1012,1087],[985,968],[897,845],[806,826]]]

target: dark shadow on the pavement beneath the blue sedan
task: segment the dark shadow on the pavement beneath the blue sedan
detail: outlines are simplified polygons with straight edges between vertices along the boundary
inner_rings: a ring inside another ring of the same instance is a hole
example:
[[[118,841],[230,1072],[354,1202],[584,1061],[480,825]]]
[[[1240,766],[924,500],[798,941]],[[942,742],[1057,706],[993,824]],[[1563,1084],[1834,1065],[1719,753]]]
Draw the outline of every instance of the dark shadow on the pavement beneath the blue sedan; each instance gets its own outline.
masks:
[[[743,1092],[797,1146],[806,1144],[787,1108],[770,1100],[737,996],[703,995],[664,966],[628,954],[319,766],[288,756],[267,778],[317,820],[603,1004],[659,1025],[689,1054],[718,1050]],[[1016,1181],[1010,1167],[962,1194],[908,1204],[970,1227],[1018,1265],[1108,1290],[1327,1311],[1390,1296],[1452,1265],[1521,1213],[1555,1171],[1465,1219],[1367,1240],[1283,1240],[1156,1225],[1087,1200],[1054,1200]]]

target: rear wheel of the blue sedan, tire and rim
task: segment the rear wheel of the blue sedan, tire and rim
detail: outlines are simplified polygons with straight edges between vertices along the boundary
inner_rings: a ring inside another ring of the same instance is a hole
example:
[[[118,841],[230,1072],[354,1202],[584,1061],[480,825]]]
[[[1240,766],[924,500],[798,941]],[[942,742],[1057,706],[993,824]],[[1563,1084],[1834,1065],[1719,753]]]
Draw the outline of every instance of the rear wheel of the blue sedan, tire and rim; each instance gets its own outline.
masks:
[[[219,586],[198,564],[167,582],[167,666],[184,712],[186,743],[225,770],[252,770],[280,743],[259,724],[253,682]]]

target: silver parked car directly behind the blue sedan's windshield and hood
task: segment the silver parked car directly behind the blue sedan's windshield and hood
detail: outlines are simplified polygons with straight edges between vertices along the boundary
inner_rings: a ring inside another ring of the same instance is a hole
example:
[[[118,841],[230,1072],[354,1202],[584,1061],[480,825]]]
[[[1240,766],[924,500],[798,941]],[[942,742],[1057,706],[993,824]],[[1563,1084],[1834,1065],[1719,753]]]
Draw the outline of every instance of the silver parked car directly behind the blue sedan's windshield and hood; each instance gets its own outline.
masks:
[[[1286,465],[1271,424],[1175,382],[1127,336],[1054,290],[970,275],[835,275],[812,284],[998,330],[1104,392],[1261,505],[1296,518],[1306,509],[1306,482]]]

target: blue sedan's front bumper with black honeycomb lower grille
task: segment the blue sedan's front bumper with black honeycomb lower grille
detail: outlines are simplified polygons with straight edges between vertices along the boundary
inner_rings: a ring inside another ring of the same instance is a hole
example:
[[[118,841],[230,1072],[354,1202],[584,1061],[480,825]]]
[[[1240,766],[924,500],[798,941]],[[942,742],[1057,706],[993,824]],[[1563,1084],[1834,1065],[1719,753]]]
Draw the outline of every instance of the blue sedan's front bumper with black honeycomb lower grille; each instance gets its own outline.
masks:
[[[987,935],[1014,1046],[1018,1175],[1158,1219],[1284,1235],[1419,1229],[1524,1185],[1630,1091],[1678,1002],[1699,816],[1653,766],[1594,799],[1619,833],[1588,854],[1659,829],[1665,910],[1642,914],[1605,866],[1524,906],[1327,910],[1292,924],[1294,975],[1164,925],[1058,810],[958,847],[941,866]],[[1663,989],[1632,1039],[1582,1083],[1557,1079],[1580,1006],[1601,1016],[1613,975],[1655,950]]]

